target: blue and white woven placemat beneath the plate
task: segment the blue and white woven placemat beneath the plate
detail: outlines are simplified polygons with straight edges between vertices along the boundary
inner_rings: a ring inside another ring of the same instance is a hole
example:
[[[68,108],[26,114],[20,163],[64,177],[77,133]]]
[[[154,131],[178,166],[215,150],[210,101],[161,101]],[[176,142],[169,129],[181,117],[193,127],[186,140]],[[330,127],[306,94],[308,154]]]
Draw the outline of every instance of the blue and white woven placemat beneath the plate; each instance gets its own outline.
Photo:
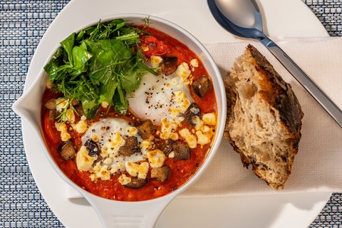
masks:
[[[0,227],[63,227],[41,197],[26,162],[20,118],[11,104],[44,31],[69,0],[0,3]],[[302,0],[330,36],[342,36],[342,0]],[[342,227],[342,194],[333,193],[310,227]]]

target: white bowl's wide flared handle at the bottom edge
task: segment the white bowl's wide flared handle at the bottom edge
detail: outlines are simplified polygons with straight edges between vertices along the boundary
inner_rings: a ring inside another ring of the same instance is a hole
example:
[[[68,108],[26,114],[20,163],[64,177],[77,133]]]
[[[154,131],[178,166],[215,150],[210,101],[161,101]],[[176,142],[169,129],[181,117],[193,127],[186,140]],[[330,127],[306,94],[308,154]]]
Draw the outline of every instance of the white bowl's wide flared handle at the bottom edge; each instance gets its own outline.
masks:
[[[83,194],[100,217],[103,228],[152,228],[161,212],[176,195],[140,202],[121,202],[104,199],[88,192]]]

